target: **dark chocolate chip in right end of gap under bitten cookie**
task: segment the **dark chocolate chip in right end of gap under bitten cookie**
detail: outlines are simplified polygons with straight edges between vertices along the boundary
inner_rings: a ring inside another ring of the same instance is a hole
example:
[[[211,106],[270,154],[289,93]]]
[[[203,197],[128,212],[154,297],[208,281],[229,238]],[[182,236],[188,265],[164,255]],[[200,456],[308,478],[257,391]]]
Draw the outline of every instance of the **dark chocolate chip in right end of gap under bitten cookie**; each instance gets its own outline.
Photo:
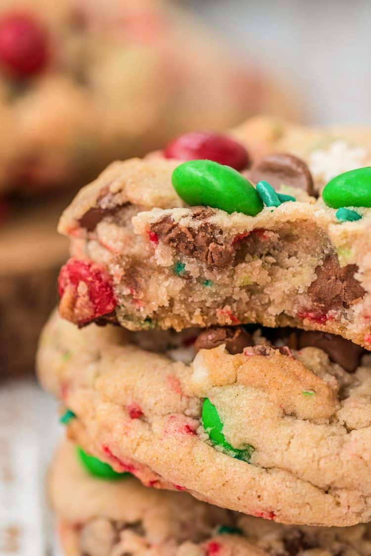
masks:
[[[341,336],[327,334],[327,332],[301,332],[299,349],[308,346],[319,347],[334,363],[338,363],[349,373],[353,373],[357,369],[359,360],[364,353],[362,346],[353,344],[352,341],[345,340]]]

